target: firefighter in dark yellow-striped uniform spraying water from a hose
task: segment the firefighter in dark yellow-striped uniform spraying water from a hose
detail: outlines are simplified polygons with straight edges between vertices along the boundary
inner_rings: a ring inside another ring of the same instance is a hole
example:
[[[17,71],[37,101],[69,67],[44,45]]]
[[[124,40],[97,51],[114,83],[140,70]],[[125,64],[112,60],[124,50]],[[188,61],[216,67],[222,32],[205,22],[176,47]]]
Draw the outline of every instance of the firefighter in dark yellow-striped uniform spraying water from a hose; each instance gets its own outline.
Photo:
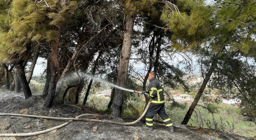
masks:
[[[144,129],[153,130],[153,117],[158,113],[166,124],[166,128],[170,132],[174,132],[172,121],[164,109],[164,92],[159,81],[156,79],[156,72],[150,72],[148,79],[150,82],[149,90],[142,91],[141,94],[148,93],[148,97],[152,98],[152,101],[146,112],[146,125],[142,127]]]

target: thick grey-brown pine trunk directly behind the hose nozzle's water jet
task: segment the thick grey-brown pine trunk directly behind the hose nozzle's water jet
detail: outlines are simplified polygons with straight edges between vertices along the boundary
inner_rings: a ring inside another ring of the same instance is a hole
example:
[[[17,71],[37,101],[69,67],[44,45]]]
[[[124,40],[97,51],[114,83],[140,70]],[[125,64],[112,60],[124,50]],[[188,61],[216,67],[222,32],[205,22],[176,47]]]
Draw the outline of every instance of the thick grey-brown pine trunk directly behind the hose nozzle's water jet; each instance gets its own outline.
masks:
[[[126,16],[125,21],[126,23],[125,23],[124,40],[123,40],[122,51],[120,54],[118,76],[116,81],[116,84],[121,87],[125,87],[126,78],[127,78],[130,51],[132,46],[134,15]],[[121,117],[123,101],[124,101],[124,91],[116,88],[114,100],[112,104],[112,112],[111,112],[112,115],[116,117]]]

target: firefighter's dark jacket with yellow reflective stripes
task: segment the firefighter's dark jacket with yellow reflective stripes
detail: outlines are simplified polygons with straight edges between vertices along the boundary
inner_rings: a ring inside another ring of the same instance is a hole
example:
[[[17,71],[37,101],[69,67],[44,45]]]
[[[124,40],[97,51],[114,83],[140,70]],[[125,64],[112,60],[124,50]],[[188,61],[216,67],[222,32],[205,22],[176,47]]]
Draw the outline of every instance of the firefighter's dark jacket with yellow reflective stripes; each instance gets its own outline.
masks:
[[[156,77],[151,78],[149,82],[148,97],[152,98],[151,104],[164,104],[164,92]]]

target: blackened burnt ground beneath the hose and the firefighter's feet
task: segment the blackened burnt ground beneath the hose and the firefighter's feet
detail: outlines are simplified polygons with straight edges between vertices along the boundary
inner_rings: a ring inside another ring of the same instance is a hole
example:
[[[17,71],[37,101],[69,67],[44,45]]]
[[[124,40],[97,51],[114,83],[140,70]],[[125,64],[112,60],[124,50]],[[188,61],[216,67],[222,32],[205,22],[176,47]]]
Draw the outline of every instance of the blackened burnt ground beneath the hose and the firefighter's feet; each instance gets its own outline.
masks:
[[[54,117],[76,117],[80,114],[98,114],[99,116],[83,116],[99,120],[122,122],[120,118],[102,114],[93,108],[81,105],[54,103],[51,108],[44,108],[44,96],[32,96],[27,100],[13,97],[0,101],[0,113],[30,114]],[[42,118],[28,118],[20,116],[0,116],[0,120],[7,120],[8,128],[13,133],[29,133],[58,126],[68,120],[50,120]],[[97,130],[93,131],[93,127]],[[16,140],[253,140],[235,134],[228,134],[216,130],[200,127],[181,126],[174,127],[170,133],[161,124],[154,124],[154,130],[144,130],[142,124],[131,126],[103,122],[74,121],[70,124],[53,130],[46,134],[35,136],[16,137]],[[1,128],[1,127],[0,127]],[[6,128],[5,128],[6,129]],[[6,137],[0,137],[0,140]],[[5,139],[4,139],[5,140]]]

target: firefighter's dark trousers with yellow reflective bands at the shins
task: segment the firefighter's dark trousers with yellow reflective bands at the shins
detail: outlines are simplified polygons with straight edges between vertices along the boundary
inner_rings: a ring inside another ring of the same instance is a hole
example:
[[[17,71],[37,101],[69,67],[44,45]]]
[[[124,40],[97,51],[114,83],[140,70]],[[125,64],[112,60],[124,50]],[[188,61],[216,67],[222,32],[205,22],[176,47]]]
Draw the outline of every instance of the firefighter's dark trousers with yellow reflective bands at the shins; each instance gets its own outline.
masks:
[[[146,112],[146,126],[148,128],[153,128],[153,117],[156,113],[158,113],[158,115],[162,118],[166,124],[166,127],[173,129],[172,121],[165,112],[164,104],[150,104],[148,111]]]

